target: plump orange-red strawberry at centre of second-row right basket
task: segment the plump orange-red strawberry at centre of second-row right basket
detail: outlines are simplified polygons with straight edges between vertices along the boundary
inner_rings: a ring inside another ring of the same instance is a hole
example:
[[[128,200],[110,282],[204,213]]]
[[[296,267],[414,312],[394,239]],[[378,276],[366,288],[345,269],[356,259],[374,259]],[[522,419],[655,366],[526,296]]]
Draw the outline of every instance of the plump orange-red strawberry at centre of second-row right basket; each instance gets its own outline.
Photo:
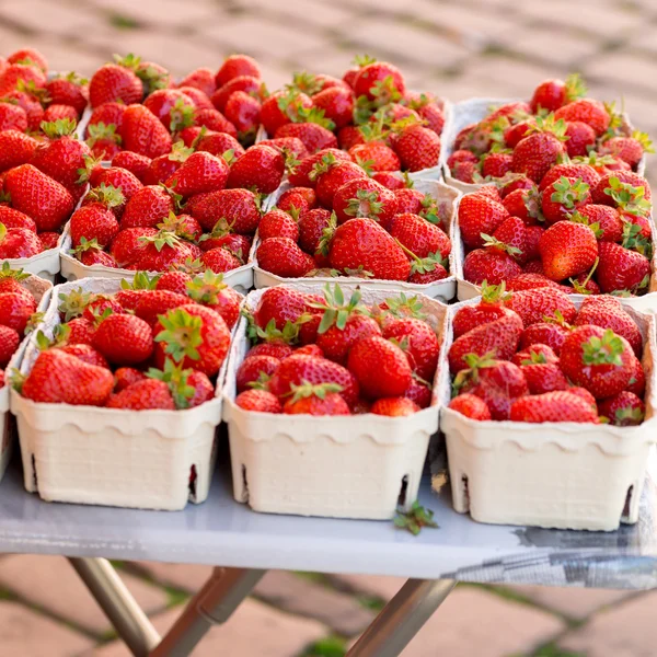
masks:
[[[593,266],[598,257],[598,242],[588,226],[558,221],[542,234],[539,251],[545,276],[563,280]]]

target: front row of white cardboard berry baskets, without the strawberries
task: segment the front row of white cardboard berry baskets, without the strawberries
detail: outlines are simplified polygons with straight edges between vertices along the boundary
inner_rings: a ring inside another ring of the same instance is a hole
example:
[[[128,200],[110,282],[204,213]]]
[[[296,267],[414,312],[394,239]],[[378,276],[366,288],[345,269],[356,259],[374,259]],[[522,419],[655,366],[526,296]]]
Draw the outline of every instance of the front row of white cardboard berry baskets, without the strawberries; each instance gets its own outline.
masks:
[[[51,337],[61,322],[61,295],[80,288],[111,297],[120,289],[118,279],[102,278],[50,290],[33,276],[23,285],[42,298],[44,311],[37,331],[12,361],[23,378],[42,353],[38,331]],[[323,290],[316,281],[284,287],[314,296]],[[356,289],[343,287],[345,292]],[[268,291],[249,293],[243,310],[256,311]],[[394,296],[376,286],[362,289],[362,302],[371,308],[390,306]],[[579,308],[584,298],[573,299]],[[249,323],[242,318],[231,332],[214,397],[193,408],[135,412],[39,403],[12,390],[25,488],[49,502],[164,510],[182,509],[188,500],[201,503],[208,495],[223,418],[238,502],[262,512],[385,519],[394,515],[400,498],[404,509],[416,499],[429,440],[440,426],[447,438],[454,508],[470,511],[475,520],[597,530],[636,522],[648,450],[657,441],[655,318],[623,301],[644,345],[641,425],[474,420],[448,405],[453,319],[476,300],[452,306],[422,295],[417,300],[416,310],[440,343],[433,396],[423,410],[397,417],[245,410],[235,403],[238,370],[250,344]],[[2,393],[8,394],[7,387]],[[2,400],[0,412],[7,410]],[[4,454],[8,449],[4,445]]]

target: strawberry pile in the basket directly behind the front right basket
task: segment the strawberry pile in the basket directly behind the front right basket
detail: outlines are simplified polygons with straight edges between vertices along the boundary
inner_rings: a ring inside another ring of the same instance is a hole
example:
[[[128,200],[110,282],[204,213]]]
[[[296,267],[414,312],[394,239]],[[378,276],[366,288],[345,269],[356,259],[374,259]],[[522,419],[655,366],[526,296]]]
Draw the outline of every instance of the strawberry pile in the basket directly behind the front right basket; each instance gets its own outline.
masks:
[[[644,293],[654,247],[650,198],[638,174],[600,174],[585,163],[556,164],[538,185],[484,185],[459,206],[463,277],[506,281],[510,290]]]

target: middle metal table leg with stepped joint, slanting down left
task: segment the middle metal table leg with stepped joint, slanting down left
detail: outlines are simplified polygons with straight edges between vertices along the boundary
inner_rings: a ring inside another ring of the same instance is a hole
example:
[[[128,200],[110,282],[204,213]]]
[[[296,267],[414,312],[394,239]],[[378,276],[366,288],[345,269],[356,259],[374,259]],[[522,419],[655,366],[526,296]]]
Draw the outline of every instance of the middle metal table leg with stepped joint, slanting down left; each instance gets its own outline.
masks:
[[[186,657],[211,625],[224,623],[266,570],[215,568],[150,657]],[[227,653],[228,654],[228,653]]]

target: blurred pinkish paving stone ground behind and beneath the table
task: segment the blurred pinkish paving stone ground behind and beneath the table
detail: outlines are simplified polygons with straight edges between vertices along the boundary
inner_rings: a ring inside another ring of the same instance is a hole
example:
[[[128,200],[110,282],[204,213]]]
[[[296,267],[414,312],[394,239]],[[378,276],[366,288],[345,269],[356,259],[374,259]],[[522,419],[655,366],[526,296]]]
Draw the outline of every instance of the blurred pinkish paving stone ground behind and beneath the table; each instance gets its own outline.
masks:
[[[25,45],[55,69],[87,74],[113,53],[182,76],[241,50],[258,57],[270,89],[296,70],[341,74],[367,51],[392,58],[413,88],[452,101],[527,95],[577,70],[596,96],[622,100],[636,127],[657,134],[655,0],[0,0],[0,53]],[[209,573],[122,564],[160,632]],[[194,655],[341,655],[401,584],[272,573]],[[404,657],[654,656],[656,596],[461,586]],[[0,558],[0,654],[128,653],[64,558],[12,555]]]

